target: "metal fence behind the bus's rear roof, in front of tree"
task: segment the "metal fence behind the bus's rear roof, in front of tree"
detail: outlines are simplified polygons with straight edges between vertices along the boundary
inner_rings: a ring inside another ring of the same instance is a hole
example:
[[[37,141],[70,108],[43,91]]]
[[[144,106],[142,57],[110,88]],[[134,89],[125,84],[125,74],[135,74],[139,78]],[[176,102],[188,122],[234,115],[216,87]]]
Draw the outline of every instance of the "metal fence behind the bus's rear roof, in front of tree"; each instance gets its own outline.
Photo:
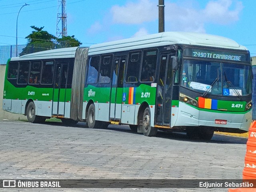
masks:
[[[49,46],[48,46],[49,47]],[[36,44],[36,47],[34,45],[18,45],[17,46],[17,52],[18,56],[29,54],[29,53],[35,53],[38,51],[46,51],[50,49],[57,49],[61,47],[57,47],[56,44],[52,44],[50,48],[46,48],[45,44]],[[16,57],[16,45],[13,46],[0,46],[0,65],[4,65],[7,63],[7,60],[10,57]]]

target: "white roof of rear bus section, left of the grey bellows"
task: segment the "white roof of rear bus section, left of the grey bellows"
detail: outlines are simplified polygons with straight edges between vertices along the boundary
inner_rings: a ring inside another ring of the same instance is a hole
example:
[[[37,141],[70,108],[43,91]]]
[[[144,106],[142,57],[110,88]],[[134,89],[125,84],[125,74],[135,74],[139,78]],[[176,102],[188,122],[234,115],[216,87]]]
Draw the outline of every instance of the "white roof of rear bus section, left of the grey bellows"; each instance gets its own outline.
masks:
[[[77,48],[78,47],[60,48],[60,49],[51,49],[48,51],[40,51],[40,52],[36,52],[36,53],[22,55],[20,57],[12,57],[11,61],[32,60],[32,59],[72,58],[72,57],[75,57]]]

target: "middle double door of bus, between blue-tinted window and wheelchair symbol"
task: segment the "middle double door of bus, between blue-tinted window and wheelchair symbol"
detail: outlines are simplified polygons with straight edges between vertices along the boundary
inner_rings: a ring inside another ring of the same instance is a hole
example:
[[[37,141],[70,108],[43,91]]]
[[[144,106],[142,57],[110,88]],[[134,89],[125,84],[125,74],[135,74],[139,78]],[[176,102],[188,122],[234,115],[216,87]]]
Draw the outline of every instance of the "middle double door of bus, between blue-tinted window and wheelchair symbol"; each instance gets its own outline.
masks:
[[[126,57],[114,58],[114,69],[110,94],[110,120],[120,121],[122,114],[122,94],[124,81],[124,67]]]

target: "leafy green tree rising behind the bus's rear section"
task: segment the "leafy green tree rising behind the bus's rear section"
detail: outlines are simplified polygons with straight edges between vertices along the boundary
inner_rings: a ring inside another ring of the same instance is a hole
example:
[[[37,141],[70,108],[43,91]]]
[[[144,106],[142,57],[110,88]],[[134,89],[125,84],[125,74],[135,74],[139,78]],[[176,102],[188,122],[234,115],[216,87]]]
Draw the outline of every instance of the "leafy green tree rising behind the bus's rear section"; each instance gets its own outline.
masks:
[[[26,47],[19,54],[20,56],[35,53],[38,51],[45,51],[55,48],[66,48],[66,47],[76,47],[82,45],[75,36],[67,36],[63,38],[56,38],[54,35],[49,34],[47,31],[44,31],[44,27],[30,26],[34,31],[31,34],[26,36],[28,43]]]

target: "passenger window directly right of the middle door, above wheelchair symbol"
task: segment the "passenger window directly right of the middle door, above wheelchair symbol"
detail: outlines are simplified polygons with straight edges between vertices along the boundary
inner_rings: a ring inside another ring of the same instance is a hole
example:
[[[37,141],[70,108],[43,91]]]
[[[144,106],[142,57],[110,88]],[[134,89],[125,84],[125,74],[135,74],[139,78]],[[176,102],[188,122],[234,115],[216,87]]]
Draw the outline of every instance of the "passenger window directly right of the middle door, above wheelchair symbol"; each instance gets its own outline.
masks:
[[[129,53],[126,70],[126,82],[138,82],[140,74],[141,52]]]

